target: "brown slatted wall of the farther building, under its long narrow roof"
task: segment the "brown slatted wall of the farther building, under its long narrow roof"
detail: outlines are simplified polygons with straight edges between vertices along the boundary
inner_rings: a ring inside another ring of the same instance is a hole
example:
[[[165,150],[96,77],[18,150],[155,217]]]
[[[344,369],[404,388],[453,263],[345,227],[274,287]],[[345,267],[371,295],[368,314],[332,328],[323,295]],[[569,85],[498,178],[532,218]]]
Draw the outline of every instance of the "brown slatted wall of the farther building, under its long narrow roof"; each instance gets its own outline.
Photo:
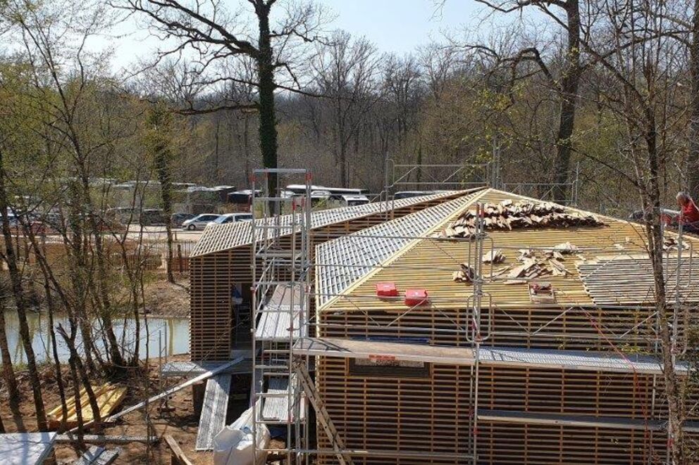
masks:
[[[388,219],[402,217],[452,200],[454,196],[437,198],[390,212]],[[386,220],[378,213],[350,221],[330,224],[311,231],[311,253],[314,246],[330,239],[350,234]],[[290,244],[290,237],[283,238]],[[230,359],[230,289],[242,283],[252,283],[252,246],[190,257],[190,357],[192,360]],[[311,282],[313,282],[311,276]],[[311,299],[314,302],[314,299]],[[311,317],[314,315],[311,307]],[[312,329],[311,329],[312,331]]]

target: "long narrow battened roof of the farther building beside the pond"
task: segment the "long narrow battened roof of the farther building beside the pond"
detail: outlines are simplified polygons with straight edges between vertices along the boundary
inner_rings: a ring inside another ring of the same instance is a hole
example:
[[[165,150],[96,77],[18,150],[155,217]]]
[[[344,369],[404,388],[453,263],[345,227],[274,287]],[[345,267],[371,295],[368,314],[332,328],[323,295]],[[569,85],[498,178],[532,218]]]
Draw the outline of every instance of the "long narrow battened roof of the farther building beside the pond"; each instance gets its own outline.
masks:
[[[338,222],[351,221],[370,215],[390,212],[400,208],[407,208],[412,205],[431,202],[457,196],[459,193],[478,191],[484,188],[474,188],[467,191],[444,191],[426,196],[411,198],[401,198],[392,201],[366,203],[364,205],[353,205],[351,207],[330,208],[311,213],[311,229],[318,229]],[[281,215],[276,218],[282,229],[287,229],[285,234],[291,234],[291,215]],[[259,234],[262,234],[259,231]],[[228,224],[209,225],[204,229],[204,233],[197,241],[197,245],[192,250],[190,257],[199,257],[211,253],[222,252],[232,248],[249,246],[252,244],[252,224],[250,222],[237,222]]]

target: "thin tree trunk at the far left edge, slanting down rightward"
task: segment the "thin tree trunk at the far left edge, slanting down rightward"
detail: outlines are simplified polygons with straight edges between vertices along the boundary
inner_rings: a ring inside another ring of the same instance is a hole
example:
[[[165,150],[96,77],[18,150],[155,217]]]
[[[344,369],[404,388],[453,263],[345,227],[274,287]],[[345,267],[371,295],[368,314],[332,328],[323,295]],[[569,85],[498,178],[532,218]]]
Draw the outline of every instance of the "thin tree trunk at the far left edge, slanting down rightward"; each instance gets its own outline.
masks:
[[[30,336],[29,324],[27,323],[27,307],[22,293],[22,276],[17,266],[17,256],[12,246],[12,234],[10,231],[10,221],[8,217],[8,200],[5,190],[5,169],[3,165],[3,155],[0,152],[0,216],[2,219],[2,235],[5,240],[5,261],[10,275],[11,290],[15,305],[17,307],[17,317],[20,326],[20,337],[24,352],[27,355],[27,369],[29,370],[32,394],[34,395],[34,405],[37,412],[37,428],[39,431],[47,431],[46,413],[44,412],[44,399],[42,398],[42,387],[39,382],[37,372],[37,362],[32,348],[32,338]]]

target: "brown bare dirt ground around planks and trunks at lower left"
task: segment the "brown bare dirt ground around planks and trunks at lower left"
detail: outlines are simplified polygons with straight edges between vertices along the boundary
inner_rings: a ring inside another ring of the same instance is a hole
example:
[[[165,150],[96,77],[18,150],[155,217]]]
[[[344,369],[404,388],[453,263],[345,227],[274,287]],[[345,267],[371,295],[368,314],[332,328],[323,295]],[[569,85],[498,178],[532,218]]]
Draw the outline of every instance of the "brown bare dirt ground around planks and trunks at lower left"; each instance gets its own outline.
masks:
[[[187,360],[188,358],[188,355],[178,355],[172,359]],[[147,381],[145,376],[141,376],[141,379],[138,382],[133,381],[135,376],[125,376],[126,381],[123,381],[122,384],[128,386],[129,389],[127,397],[122,404],[122,408],[135,405],[147,398],[149,395],[154,395],[155,393],[160,392],[161,386],[159,386],[157,379],[157,369],[158,367],[156,361],[149,364],[149,376]],[[67,370],[64,376],[67,378],[70,377]],[[20,392],[24,394],[21,402],[21,411],[23,412],[25,424],[30,431],[36,431],[35,408],[27,372],[18,372],[17,378],[20,383]],[[168,378],[168,384],[166,387],[174,386],[175,384],[183,381],[185,381],[184,378]],[[240,412],[247,408],[247,400],[245,399],[245,395],[235,394],[236,391],[244,393],[247,386],[249,386],[249,384],[246,384],[247,382],[249,381],[246,381],[245,379],[236,380],[234,378],[233,380],[233,393],[229,402],[228,423],[235,420]],[[236,386],[236,384],[238,386]],[[61,401],[58,397],[58,390],[56,388],[55,372],[52,368],[47,368],[42,371],[42,392],[44,396],[44,405],[47,411],[60,405]],[[211,464],[213,463],[214,456],[212,452],[194,451],[199,419],[197,414],[194,413],[194,405],[192,402],[193,393],[194,390],[191,387],[175,393],[168,401],[168,406],[174,407],[173,412],[161,414],[158,408],[159,404],[156,402],[155,405],[149,407],[147,413],[149,415],[151,425],[159,438],[162,438],[163,435],[170,434],[179,442],[183,452],[192,461],[192,463]],[[131,414],[126,415],[123,419],[118,420],[118,423],[105,428],[104,434],[146,436],[147,422],[145,421],[145,413],[146,412],[144,410],[141,410],[139,412],[132,412]],[[1,385],[0,415],[4,420],[8,433],[12,432],[15,425],[12,421],[12,416],[8,405],[7,391]],[[151,446],[144,445],[140,442],[133,442],[127,445],[110,444],[106,447],[109,449],[113,447],[120,447],[122,452],[116,461],[117,464],[171,463],[170,449],[164,440],[161,440],[157,444]],[[55,453],[58,464],[71,463],[77,457],[75,449],[70,445],[56,445]]]

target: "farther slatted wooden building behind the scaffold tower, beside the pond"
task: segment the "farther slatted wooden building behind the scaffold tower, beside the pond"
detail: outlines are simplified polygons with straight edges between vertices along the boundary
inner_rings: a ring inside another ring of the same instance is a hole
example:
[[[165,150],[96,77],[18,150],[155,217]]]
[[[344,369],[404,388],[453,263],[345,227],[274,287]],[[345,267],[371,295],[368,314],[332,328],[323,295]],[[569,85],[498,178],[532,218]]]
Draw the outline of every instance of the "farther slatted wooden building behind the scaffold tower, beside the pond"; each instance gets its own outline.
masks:
[[[313,212],[314,245],[403,217],[462,196],[443,192]],[[284,223],[289,215],[280,217]],[[207,227],[190,255],[190,354],[194,361],[225,361],[249,349],[252,224]]]

